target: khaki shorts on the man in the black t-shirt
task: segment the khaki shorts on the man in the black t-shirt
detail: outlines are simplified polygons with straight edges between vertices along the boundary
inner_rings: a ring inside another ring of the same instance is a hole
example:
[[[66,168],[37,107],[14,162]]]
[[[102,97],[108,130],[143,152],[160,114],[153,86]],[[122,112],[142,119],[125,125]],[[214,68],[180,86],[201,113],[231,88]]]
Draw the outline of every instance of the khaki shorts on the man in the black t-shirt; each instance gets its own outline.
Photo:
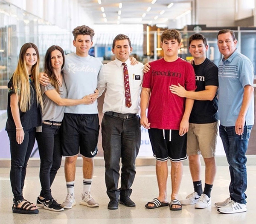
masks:
[[[204,158],[215,156],[218,133],[218,121],[208,124],[189,123],[187,133],[187,154],[201,155]]]

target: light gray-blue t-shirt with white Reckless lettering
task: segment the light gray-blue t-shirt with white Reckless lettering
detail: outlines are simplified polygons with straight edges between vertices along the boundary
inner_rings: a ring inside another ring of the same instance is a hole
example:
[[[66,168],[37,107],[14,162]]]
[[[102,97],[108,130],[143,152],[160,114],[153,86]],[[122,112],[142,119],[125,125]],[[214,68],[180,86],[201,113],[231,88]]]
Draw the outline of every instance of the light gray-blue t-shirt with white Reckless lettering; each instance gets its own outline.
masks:
[[[68,99],[81,99],[93,94],[97,88],[98,74],[102,67],[99,59],[91,56],[80,57],[76,53],[65,56],[63,68]],[[65,108],[65,113],[98,113],[97,100],[89,105],[76,105]]]

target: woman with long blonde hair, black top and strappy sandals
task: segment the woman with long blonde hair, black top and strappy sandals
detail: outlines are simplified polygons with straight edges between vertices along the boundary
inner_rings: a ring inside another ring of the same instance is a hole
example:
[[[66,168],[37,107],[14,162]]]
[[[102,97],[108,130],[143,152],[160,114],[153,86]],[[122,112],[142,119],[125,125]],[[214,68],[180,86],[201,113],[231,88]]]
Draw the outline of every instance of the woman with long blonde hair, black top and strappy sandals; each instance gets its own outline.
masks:
[[[43,101],[38,75],[38,48],[33,43],[25,43],[20,49],[17,68],[8,83],[6,131],[11,149],[13,213],[38,213],[35,204],[23,198],[26,166],[35,143],[35,128],[42,123]]]

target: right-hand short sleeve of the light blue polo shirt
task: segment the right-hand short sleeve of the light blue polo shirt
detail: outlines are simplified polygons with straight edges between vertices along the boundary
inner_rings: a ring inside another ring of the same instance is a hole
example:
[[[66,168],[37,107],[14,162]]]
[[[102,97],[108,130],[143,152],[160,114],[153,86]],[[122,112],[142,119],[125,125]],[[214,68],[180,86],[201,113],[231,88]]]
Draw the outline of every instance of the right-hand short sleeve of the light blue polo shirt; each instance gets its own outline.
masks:
[[[248,59],[241,60],[238,66],[239,80],[244,88],[246,85],[253,86],[253,64]]]

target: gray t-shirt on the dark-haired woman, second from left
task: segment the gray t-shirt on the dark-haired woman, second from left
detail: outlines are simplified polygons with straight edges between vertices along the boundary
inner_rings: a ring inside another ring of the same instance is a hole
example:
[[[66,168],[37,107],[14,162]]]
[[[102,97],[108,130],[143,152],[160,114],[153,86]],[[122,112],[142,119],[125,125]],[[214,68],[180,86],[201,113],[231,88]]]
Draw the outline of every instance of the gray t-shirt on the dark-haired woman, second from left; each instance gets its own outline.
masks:
[[[55,121],[61,122],[64,116],[64,106],[59,106],[51,99],[47,97],[45,91],[55,89],[54,86],[49,83],[47,86],[41,85],[41,91],[43,95],[44,110],[43,121]],[[67,87],[63,79],[62,86],[59,88],[61,98],[67,98]]]

